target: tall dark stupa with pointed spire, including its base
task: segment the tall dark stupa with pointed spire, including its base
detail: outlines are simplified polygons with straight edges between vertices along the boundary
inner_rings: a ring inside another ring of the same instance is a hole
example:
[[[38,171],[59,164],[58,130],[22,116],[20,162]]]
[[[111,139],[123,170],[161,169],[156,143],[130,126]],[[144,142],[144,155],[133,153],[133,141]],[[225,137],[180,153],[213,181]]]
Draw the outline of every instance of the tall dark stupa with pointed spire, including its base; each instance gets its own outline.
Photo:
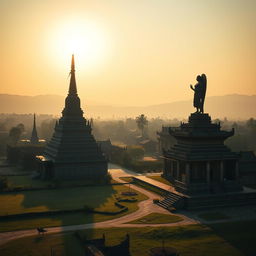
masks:
[[[72,55],[69,91],[62,117],[56,122],[44,154],[37,157],[41,178],[103,179],[107,175],[107,160],[91,132],[91,123],[83,117],[80,107]]]

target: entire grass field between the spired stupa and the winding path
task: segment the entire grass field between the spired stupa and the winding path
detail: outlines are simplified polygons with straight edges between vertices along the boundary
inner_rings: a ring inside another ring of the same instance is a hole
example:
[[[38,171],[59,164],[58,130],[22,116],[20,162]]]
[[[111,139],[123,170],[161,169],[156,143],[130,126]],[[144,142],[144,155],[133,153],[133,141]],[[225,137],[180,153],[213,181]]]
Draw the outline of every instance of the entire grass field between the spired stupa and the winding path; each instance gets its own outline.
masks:
[[[121,192],[127,190],[128,188],[124,185],[109,185],[2,194],[0,195],[0,215],[79,209],[85,205],[98,211],[116,212],[120,209],[114,205],[116,201],[115,196],[120,196]],[[121,197],[125,198],[124,196]],[[147,199],[141,193],[138,193],[136,198],[138,199],[137,202],[122,202],[122,205],[128,207],[128,211],[114,216],[92,213],[66,213],[58,214],[57,217],[17,217],[17,220],[0,221],[0,232],[29,229],[38,226],[75,225],[118,218],[136,211],[138,209],[138,202]]]

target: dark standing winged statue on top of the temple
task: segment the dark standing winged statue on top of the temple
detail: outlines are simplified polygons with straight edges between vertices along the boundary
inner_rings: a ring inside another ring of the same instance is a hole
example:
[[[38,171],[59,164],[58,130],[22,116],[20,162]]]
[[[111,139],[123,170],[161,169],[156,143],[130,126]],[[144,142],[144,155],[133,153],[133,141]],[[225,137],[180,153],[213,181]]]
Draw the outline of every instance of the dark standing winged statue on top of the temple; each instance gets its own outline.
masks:
[[[206,93],[207,79],[206,75],[202,74],[201,76],[197,76],[196,78],[197,84],[195,84],[194,88],[190,85],[190,88],[194,91],[194,101],[193,106],[196,108],[195,113],[204,113],[204,99]]]

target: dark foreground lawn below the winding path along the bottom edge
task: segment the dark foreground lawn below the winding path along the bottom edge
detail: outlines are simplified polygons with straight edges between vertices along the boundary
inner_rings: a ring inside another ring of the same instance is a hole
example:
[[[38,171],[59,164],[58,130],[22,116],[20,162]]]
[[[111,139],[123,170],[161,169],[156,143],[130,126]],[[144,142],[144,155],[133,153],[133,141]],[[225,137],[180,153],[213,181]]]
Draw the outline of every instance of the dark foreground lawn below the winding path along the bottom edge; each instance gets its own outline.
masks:
[[[108,246],[122,241],[130,234],[132,256],[149,255],[149,249],[165,246],[175,247],[182,256],[253,256],[256,221],[222,223],[221,225],[189,225],[169,228],[112,228],[82,231],[88,239],[106,235]],[[40,250],[38,250],[40,248]],[[48,256],[51,248],[65,251],[65,255],[82,256],[81,245],[72,233],[46,235],[42,238],[26,237],[11,241],[0,248],[0,255]]]

